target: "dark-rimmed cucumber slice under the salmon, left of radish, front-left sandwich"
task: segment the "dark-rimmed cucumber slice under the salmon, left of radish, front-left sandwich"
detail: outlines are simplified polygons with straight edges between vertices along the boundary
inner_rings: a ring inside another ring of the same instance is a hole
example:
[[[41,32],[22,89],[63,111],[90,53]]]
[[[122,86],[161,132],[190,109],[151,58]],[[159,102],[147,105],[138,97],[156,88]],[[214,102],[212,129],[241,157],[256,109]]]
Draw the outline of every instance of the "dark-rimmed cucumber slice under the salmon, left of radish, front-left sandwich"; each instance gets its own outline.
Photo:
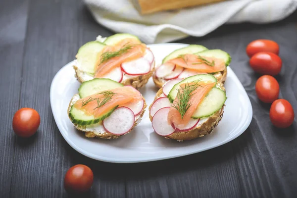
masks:
[[[74,105],[71,106],[69,117],[74,124],[78,125],[89,125],[89,124],[96,124],[105,118],[107,118],[118,106],[115,106],[110,111],[105,113],[99,118],[94,118],[93,115],[86,115],[83,110],[77,109],[74,107]]]

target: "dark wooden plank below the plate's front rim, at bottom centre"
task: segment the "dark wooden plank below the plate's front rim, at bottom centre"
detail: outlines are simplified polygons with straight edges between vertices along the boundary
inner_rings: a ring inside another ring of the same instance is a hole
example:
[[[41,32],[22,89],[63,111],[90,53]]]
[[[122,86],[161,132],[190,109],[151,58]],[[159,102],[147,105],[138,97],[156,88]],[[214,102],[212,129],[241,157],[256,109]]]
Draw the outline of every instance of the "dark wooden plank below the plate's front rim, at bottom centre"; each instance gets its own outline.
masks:
[[[190,156],[131,165],[129,198],[236,197],[240,194],[231,145]]]

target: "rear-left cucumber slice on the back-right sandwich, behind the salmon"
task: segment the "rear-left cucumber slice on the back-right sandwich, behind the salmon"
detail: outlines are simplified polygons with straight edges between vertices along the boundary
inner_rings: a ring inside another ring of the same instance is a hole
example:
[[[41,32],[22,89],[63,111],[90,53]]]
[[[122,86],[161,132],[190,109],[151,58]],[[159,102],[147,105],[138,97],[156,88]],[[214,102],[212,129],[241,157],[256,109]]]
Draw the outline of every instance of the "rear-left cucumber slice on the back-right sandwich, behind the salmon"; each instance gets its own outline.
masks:
[[[193,53],[197,53],[197,52],[204,51],[204,50],[207,50],[207,48],[205,48],[204,46],[200,46],[200,45],[190,45],[185,48],[176,49],[175,51],[173,51],[169,55],[167,55],[162,60],[162,63],[165,63],[168,60],[176,58],[177,56],[182,55],[182,54],[187,54],[187,53],[193,54]]]

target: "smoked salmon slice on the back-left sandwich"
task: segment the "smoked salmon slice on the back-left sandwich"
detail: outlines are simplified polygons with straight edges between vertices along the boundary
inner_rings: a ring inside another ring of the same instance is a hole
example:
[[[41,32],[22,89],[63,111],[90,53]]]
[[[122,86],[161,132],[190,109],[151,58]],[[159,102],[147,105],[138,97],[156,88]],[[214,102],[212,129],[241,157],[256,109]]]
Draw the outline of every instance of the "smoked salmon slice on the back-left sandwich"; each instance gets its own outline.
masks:
[[[145,54],[146,45],[135,43],[131,39],[125,39],[119,42],[116,46],[106,46],[99,58],[99,65],[97,66],[94,78],[101,78],[108,74],[116,67],[120,67],[123,62],[138,59]],[[104,56],[112,54],[111,58],[104,61]]]

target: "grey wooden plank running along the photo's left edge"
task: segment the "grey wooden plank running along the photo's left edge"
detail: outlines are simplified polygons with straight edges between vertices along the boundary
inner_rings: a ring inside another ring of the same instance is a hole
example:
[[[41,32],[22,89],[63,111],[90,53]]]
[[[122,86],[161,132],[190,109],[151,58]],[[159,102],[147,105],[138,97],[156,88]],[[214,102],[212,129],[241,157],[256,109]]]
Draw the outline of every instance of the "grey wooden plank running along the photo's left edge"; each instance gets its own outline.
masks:
[[[27,0],[1,2],[0,6],[0,197],[9,197],[16,136],[11,124],[19,107]]]

